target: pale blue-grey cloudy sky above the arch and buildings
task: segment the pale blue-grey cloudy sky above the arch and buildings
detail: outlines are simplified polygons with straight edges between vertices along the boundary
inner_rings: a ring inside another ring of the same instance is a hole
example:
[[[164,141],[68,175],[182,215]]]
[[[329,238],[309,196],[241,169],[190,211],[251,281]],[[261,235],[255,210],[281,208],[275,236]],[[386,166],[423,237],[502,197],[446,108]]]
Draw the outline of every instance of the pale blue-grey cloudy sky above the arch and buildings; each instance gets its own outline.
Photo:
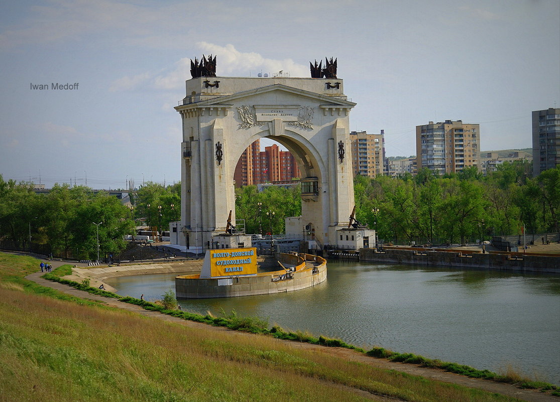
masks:
[[[173,107],[202,54],[227,77],[310,77],[337,58],[351,130],[385,130],[386,156],[416,155],[416,125],[458,119],[480,124],[483,151],[528,148],[531,111],[560,105],[560,1],[5,1],[3,179],[180,181]]]

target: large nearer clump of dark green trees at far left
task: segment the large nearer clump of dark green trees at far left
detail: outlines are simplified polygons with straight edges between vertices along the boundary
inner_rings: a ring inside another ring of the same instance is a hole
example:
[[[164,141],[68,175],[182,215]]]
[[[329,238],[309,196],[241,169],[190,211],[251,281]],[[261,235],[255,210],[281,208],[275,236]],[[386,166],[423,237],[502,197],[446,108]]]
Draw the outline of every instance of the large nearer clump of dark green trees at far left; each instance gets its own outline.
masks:
[[[7,248],[94,259],[98,230],[101,253],[119,253],[133,233],[129,209],[113,195],[68,184],[36,194],[32,183],[0,175],[0,240]]]

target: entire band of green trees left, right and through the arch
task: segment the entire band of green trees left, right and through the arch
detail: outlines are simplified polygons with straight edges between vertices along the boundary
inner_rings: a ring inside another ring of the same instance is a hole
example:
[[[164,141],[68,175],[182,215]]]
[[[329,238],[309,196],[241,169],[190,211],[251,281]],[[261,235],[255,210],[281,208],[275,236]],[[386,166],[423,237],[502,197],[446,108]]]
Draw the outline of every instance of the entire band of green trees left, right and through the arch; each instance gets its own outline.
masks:
[[[236,218],[244,219],[246,233],[281,234],[284,218],[301,215],[300,185],[262,192],[251,185],[235,194]],[[356,219],[377,228],[379,239],[399,244],[489,240],[520,235],[524,225],[529,235],[559,231],[560,166],[536,177],[525,161],[505,162],[486,177],[476,167],[441,176],[428,169],[398,178],[357,176],[354,195]],[[0,241],[29,250],[31,236],[47,254],[94,259],[98,230],[101,254],[118,254],[135,226],[165,231],[180,219],[180,183],[148,182],[130,193],[130,201],[132,210],[104,191],[68,184],[36,194],[31,183],[0,175]]]

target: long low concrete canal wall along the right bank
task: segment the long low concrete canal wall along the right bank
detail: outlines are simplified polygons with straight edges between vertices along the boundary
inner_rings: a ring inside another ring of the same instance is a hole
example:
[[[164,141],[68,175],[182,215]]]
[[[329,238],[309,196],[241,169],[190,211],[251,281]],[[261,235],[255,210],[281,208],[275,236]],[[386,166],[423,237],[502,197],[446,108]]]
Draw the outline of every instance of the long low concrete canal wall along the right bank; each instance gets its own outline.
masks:
[[[560,256],[529,253],[478,253],[477,251],[433,251],[425,249],[360,250],[361,261],[438,267],[488,268],[525,272],[560,273]]]

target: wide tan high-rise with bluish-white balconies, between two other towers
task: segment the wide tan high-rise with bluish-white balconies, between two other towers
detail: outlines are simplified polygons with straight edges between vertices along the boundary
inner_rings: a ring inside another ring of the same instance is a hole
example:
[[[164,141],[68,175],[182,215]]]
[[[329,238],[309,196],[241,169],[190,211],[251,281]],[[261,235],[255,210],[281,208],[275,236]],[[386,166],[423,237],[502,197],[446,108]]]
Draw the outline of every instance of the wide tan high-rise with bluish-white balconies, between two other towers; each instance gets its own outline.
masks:
[[[417,169],[427,167],[440,174],[478,167],[479,124],[445,120],[416,126]]]

